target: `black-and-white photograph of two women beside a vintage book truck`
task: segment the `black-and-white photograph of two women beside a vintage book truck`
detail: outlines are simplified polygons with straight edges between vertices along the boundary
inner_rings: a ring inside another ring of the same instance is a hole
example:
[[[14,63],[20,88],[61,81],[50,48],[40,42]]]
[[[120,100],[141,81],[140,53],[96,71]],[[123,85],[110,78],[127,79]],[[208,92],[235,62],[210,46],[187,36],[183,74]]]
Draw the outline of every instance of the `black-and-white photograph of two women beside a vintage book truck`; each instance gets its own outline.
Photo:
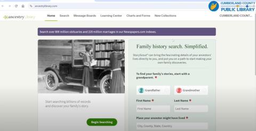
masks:
[[[38,40],[38,93],[125,93],[123,39]]]

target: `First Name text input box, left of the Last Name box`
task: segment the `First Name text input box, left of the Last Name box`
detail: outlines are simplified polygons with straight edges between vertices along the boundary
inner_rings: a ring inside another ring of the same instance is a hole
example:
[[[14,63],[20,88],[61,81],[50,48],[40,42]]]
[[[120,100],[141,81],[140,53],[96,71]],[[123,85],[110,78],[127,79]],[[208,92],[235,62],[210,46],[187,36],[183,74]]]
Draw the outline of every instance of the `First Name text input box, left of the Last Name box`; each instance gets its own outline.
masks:
[[[170,105],[137,105],[137,112],[170,112]]]

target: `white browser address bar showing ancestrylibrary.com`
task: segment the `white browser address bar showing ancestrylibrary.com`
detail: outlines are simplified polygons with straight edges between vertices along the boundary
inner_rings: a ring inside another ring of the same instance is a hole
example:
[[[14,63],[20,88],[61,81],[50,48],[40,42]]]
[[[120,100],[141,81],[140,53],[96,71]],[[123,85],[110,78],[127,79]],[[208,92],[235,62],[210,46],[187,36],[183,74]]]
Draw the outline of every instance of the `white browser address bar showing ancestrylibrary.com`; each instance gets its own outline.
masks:
[[[32,3],[30,9],[174,9],[207,10],[208,3]]]

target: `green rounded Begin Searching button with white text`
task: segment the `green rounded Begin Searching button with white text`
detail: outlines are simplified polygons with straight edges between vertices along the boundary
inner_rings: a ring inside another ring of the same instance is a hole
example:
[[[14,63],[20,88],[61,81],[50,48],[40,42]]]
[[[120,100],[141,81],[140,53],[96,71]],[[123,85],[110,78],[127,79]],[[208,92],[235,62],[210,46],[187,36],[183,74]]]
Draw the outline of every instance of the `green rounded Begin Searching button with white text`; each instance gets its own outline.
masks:
[[[87,120],[88,126],[115,126],[117,120],[114,118],[90,118]]]

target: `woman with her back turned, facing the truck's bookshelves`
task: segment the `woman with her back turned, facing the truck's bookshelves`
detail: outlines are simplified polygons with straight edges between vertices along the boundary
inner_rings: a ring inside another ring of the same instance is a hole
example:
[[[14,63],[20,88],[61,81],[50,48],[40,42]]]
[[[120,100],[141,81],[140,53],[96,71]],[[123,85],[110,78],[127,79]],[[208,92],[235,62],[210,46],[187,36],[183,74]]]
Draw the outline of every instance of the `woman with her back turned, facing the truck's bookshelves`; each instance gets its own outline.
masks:
[[[110,54],[110,93],[124,93],[124,76],[121,71],[121,60],[124,58],[124,54],[119,53],[119,44],[114,44],[113,52]]]

